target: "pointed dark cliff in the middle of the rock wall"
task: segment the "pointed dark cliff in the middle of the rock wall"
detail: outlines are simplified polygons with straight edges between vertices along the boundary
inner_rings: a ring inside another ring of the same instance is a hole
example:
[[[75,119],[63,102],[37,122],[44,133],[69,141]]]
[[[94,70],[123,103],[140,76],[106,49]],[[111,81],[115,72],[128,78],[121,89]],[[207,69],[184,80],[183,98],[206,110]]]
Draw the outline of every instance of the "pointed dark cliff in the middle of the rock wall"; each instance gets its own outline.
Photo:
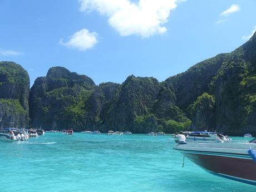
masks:
[[[156,130],[155,117],[149,119],[149,124],[153,121],[154,126],[143,129],[135,125],[137,116],[148,116],[152,114],[153,102],[159,92],[159,82],[152,77],[127,77],[124,83],[116,91],[114,97],[108,104],[102,121],[105,129],[114,131],[148,132]]]

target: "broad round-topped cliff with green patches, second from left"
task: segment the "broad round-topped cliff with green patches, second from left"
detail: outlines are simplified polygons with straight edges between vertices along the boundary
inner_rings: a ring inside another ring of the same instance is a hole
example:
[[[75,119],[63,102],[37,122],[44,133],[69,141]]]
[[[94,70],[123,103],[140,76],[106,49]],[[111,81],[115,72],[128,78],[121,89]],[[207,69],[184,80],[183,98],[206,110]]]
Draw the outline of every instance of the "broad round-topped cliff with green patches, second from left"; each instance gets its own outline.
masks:
[[[46,77],[36,79],[29,96],[31,126],[43,129],[82,129],[85,104],[95,83],[90,77],[52,67]]]

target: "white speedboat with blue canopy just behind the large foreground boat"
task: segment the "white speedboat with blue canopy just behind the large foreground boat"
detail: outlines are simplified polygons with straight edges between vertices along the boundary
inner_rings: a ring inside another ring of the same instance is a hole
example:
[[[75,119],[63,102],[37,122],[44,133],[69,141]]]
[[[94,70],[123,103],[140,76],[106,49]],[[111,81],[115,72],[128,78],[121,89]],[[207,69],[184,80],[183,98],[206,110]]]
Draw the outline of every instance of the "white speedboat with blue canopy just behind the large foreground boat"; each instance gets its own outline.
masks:
[[[188,132],[185,134],[186,141],[231,141],[228,136],[224,136],[218,132],[208,132],[208,131],[197,131],[197,132]]]

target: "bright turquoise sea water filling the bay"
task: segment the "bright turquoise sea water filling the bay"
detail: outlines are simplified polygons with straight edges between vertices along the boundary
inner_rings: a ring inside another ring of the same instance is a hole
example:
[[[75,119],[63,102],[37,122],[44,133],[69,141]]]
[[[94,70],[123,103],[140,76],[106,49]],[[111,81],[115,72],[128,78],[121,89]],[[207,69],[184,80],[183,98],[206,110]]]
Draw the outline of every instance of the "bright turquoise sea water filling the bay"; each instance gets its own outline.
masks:
[[[182,168],[170,135],[46,133],[0,144],[1,192],[256,190],[210,175],[188,159]]]

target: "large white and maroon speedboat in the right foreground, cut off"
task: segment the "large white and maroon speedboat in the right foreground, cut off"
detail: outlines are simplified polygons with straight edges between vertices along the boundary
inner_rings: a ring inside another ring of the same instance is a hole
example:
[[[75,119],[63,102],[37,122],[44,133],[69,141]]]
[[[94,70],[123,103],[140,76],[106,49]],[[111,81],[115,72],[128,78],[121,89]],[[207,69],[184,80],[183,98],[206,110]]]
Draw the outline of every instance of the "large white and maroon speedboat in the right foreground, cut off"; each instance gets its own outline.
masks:
[[[179,140],[174,149],[213,175],[256,185],[256,139],[250,142]]]

